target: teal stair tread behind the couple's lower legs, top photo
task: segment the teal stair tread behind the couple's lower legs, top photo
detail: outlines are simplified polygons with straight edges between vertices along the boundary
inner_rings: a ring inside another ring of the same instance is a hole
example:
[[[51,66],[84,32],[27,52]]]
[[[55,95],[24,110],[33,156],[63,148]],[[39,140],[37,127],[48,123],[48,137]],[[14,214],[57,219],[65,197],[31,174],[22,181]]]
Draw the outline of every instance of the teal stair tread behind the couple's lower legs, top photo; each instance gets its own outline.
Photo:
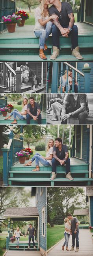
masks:
[[[48,48],[52,48],[52,44],[51,43],[48,43],[47,44],[47,46],[48,46]],[[81,48],[86,48],[86,47],[88,47],[88,48],[90,48],[90,47],[93,47],[93,42],[87,42],[87,43],[79,43],[79,46],[81,47]],[[60,43],[60,48],[71,48],[71,42],[70,43]],[[10,43],[10,44],[0,44],[0,48],[1,49],[7,49],[7,48],[13,48],[13,49],[15,49],[15,48],[19,48],[19,49],[21,49],[21,48],[31,48],[31,49],[37,49],[37,48],[39,48],[39,43],[27,43],[27,44],[25,44],[25,43],[20,43],[20,44],[12,44],[12,43]]]

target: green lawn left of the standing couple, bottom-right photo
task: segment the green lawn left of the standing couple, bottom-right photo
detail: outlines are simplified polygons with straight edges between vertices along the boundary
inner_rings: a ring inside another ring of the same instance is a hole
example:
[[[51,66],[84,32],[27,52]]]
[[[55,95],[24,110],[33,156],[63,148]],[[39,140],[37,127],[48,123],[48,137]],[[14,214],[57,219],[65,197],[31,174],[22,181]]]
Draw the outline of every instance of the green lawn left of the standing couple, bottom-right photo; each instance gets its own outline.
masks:
[[[47,250],[64,238],[64,225],[47,228]]]

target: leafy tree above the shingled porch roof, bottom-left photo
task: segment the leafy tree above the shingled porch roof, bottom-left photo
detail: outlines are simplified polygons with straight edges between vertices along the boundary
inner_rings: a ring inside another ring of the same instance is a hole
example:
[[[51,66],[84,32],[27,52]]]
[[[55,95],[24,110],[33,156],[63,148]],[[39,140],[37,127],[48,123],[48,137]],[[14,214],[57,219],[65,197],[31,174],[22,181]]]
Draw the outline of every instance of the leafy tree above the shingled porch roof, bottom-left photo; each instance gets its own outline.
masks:
[[[0,222],[7,226],[4,218],[7,207],[28,207],[29,203],[30,191],[24,188],[0,188]]]

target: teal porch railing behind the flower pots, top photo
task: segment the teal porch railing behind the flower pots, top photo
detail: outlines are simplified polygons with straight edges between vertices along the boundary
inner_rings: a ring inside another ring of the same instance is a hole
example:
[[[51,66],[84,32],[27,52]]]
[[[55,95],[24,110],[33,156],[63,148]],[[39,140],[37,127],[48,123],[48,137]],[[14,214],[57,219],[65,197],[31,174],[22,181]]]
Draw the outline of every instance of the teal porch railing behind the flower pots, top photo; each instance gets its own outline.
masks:
[[[15,12],[15,0],[1,0],[0,1],[0,22],[2,20],[2,16],[12,15]],[[0,24],[0,33],[6,30],[6,24]]]

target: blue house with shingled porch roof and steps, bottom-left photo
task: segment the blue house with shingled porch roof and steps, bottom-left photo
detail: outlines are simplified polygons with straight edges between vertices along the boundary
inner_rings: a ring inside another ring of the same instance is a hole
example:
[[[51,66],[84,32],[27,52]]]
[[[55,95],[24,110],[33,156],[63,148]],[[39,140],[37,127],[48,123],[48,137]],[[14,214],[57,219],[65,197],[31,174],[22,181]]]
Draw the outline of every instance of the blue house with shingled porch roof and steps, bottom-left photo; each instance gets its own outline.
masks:
[[[36,207],[10,207],[6,208],[4,217],[8,219],[8,235],[6,241],[6,248],[8,250],[28,250],[28,241],[20,239],[19,249],[16,248],[16,241],[11,243],[11,237],[13,235],[13,223],[15,221],[28,221],[34,222],[35,227],[35,248],[31,241],[29,250],[40,251],[43,256],[46,256],[47,240],[46,240],[46,224],[47,224],[47,213],[46,213],[46,188],[32,188],[31,196],[35,196]],[[21,228],[21,227],[20,227]],[[37,254],[38,255],[38,254]]]

